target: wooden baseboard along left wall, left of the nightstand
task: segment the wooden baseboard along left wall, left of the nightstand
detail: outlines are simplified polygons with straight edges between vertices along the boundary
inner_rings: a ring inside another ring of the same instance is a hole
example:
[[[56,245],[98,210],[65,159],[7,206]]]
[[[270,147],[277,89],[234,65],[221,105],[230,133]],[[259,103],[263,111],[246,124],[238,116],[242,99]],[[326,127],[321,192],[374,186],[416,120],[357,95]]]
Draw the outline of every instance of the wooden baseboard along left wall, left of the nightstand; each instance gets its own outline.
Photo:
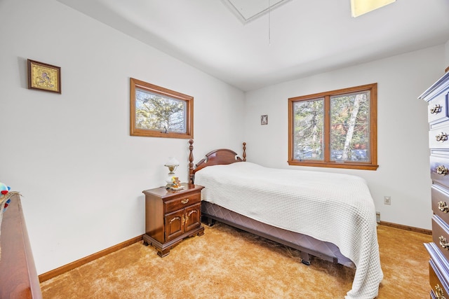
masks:
[[[104,249],[102,251],[98,251],[97,253],[93,253],[90,256],[86,256],[85,258],[80,258],[79,260],[75,260],[72,263],[69,263],[67,265],[63,265],[63,266],[58,267],[58,268],[56,268],[54,270],[51,270],[51,271],[45,272],[43,274],[40,274],[39,275],[39,282],[46,281],[46,280],[51,279],[53,277],[56,277],[56,276],[58,276],[60,274],[63,274],[65,272],[67,272],[67,271],[70,271],[70,270],[72,270],[72,269],[74,269],[76,267],[79,267],[81,265],[89,263],[92,260],[96,260],[97,258],[101,258],[102,256],[106,256],[107,254],[113,253],[115,251],[118,251],[118,250],[120,250],[122,248],[125,248],[126,246],[130,246],[130,245],[132,245],[134,243],[140,242],[140,241],[142,241],[142,239],[143,239],[143,235],[140,235],[138,237],[133,237],[133,239],[128,239],[128,241],[121,242],[119,244],[116,244],[116,245],[114,245],[112,247],[109,247],[107,249]]]

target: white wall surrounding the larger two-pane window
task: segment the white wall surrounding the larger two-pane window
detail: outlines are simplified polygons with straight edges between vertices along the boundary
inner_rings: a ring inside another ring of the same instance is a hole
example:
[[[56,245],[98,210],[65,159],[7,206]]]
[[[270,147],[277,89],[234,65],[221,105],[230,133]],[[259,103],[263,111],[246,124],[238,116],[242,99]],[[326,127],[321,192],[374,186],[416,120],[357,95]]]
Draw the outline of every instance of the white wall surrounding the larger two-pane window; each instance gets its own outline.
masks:
[[[444,54],[444,46],[437,46],[247,92],[248,161],[362,176],[382,221],[431,229],[427,103],[417,97],[443,76]],[[288,166],[289,97],[376,82],[376,171]],[[268,125],[260,125],[264,114]],[[391,205],[383,204],[384,195],[391,196]]]

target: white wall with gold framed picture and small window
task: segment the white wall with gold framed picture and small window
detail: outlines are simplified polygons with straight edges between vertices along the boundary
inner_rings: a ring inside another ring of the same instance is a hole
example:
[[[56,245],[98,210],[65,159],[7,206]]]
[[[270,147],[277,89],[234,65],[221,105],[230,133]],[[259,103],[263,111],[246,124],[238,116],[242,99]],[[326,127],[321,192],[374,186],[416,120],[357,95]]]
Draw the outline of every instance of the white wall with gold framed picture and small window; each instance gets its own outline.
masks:
[[[142,235],[168,156],[187,181],[187,139],[130,137],[130,77],[194,97],[195,162],[241,147],[243,92],[57,1],[1,0],[0,43],[0,181],[39,274]],[[27,89],[27,58],[61,67],[62,95]]]

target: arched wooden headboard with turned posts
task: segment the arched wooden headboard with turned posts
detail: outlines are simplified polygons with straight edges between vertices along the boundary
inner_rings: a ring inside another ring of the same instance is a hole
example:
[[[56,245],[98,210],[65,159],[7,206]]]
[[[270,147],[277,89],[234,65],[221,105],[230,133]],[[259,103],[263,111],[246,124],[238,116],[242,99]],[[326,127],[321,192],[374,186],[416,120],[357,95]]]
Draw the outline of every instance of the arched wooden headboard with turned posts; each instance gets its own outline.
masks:
[[[206,154],[206,157],[201,159],[194,168],[194,141],[192,139],[189,140],[189,183],[194,183],[195,172],[203,169],[204,167],[212,166],[212,165],[227,165],[232,164],[234,162],[245,162],[246,161],[246,142],[243,142],[243,159],[237,156],[237,153],[227,149],[220,148],[210,153]]]

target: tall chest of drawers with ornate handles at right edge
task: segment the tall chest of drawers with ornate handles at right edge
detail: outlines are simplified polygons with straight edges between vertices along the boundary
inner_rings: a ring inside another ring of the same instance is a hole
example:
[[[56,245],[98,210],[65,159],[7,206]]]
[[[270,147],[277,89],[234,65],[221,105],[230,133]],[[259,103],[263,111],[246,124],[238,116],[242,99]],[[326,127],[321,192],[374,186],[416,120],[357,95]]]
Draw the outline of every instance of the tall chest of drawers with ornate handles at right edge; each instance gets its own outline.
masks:
[[[449,299],[449,72],[420,97],[429,103],[431,207],[430,298]]]

